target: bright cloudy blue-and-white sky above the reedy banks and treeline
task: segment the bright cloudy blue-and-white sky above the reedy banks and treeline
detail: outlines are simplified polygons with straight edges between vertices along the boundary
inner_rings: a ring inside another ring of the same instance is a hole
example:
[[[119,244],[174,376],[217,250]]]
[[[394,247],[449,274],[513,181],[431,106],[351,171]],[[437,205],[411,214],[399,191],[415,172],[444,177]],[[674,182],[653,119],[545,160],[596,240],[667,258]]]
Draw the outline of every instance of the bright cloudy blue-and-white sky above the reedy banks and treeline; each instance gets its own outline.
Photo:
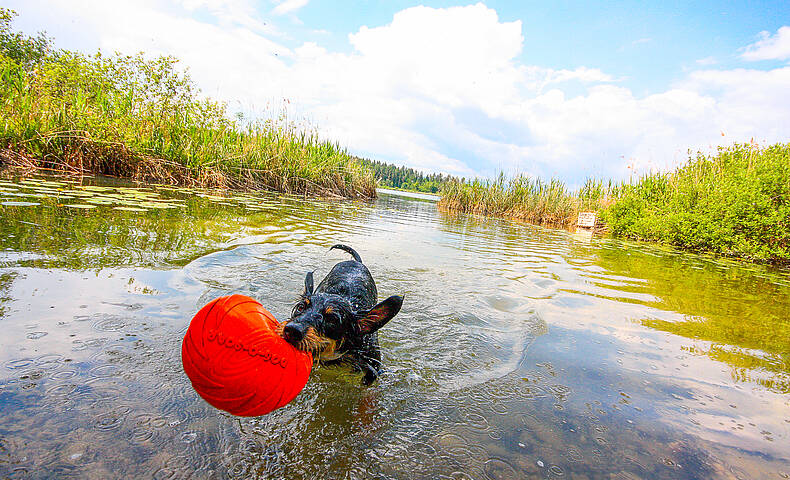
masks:
[[[790,2],[11,0],[56,46],[172,55],[248,118],[463,177],[627,179],[790,142]],[[274,112],[274,113],[273,113]]]

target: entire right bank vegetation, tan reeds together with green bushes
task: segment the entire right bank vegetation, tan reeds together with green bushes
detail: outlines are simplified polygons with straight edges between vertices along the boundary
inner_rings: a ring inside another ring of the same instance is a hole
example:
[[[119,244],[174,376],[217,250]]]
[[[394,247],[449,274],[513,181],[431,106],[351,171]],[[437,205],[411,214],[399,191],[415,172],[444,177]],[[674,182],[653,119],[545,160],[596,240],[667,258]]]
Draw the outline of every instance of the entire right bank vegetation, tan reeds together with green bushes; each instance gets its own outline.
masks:
[[[790,263],[790,144],[736,144],[699,153],[673,172],[634,182],[588,180],[575,192],[559,180],[524,176],[456,182],[439,205],[560,227],[592,210],[617,236]]]

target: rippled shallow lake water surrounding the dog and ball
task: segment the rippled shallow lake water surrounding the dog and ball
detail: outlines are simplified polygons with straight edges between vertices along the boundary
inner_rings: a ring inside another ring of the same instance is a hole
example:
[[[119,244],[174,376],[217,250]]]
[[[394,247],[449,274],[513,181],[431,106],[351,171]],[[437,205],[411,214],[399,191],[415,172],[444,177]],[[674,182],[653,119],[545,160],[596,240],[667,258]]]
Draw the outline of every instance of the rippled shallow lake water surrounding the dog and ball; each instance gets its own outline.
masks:
[[[0,182],[2,477],[790,478],[786,269],[399,195],[45,182]],[[192,315],[285,318],[335,243],[406,296],[387,373],[316,368],[259,418],[203,402]]]

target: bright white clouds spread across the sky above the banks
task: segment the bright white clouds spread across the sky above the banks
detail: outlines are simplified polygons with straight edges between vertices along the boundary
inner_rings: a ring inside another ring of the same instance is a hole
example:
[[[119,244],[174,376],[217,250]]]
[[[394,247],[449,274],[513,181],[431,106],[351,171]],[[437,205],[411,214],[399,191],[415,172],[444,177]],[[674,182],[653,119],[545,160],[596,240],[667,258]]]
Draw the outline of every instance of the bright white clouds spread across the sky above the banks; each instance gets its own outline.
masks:
[[[790,136],[790,67],[714,70],[702,62],[666,91],[637,96],[595,66],[525,64],[523,51],[537,46],[525,45],[521,22],[501,21],[483,4],[403,10],[349,34],[352,50],[341,53],[311,42],[287,48],[250,27],[261,21],[246,0],[181,0],[181,10],[160,1],[42,8],[81,12],[106,50],[177,56],[233,109],[260,113],[287,98],[294,117],[352,152],[423,170],[505,170],[574,184],[671,168],[689,148]],[[778,58],[783,29],[744,56]]]

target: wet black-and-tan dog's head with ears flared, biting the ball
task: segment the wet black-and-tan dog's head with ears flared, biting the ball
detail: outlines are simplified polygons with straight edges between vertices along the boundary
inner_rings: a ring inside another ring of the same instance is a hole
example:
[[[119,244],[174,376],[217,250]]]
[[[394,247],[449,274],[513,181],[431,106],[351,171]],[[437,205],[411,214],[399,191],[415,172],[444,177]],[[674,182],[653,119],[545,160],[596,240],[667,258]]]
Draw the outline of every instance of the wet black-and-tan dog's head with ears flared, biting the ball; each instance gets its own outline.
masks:
[[[393,295],[369,310],[358,310],[340,295],[314,293],[313,274],[308,273],[304,293],[291,318],[281,324],[280,335],[299,350],[333,360],[383,327],[402,304],[403,297]]]

